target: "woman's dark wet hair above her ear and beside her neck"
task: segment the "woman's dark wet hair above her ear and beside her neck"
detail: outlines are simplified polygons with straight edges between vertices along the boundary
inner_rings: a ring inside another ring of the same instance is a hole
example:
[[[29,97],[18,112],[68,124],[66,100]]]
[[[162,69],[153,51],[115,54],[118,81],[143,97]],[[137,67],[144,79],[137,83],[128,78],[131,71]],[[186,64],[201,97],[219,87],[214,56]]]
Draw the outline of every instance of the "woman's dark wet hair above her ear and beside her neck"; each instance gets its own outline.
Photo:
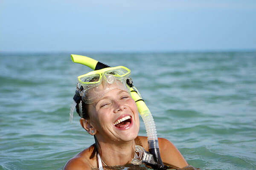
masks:
[[[78,113],[78,115],[81,118],[90,119],[89,111],[88,111],[88,104],[83,102],[83,100],[81,100],[81,104],[82,104],[82,109],[81,109],[82,113],[80,113],[79,104],[76,104],[76,112]],[[98,142],[96,136],[93,135],[93,137],[94,137],[95,143],[92,145],[93,151],[92,151],[92,154],[90,155],[90,159],[92,159],[94,156],[96,156],[96,154],[99,153],[99,149],[100,149],[99,142]]]

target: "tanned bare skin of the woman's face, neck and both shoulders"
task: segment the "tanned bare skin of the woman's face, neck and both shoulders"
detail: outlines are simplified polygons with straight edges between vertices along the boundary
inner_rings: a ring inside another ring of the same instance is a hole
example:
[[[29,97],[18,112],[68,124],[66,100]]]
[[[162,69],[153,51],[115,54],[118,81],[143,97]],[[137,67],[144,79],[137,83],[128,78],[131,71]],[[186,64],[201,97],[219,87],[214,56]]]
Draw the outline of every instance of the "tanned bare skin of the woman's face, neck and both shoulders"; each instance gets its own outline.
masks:
[[[99,153],[102,161],[108,166],[125,165],[134,157],[135,145],[142,146],[148,151],[147,137],[138,136],[140,120],[137,105],[127,91],[113,85],[93,104],[87,105],[89,117],[80,119],[80,124],[90,135],[94,135],[99,143]],[[130,122],[121,126],[114,125],[123,117],[129,116]],[[160,156],[163,163],[172,167],[186,167],[183,156],[167,139],[159,138]],[[91,170],[98,167],[97,157],[90,159],[93,145],[81,151],[70,159],[64,170]]]

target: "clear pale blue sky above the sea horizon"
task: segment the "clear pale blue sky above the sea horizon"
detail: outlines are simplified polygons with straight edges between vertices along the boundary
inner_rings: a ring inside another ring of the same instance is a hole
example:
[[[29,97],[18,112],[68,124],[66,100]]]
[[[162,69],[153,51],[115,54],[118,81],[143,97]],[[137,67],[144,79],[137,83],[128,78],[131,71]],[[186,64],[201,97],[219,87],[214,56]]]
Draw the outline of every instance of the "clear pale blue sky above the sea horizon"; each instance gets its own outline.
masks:
[[[256,49],[256,0],[0,0],[0,52]]]

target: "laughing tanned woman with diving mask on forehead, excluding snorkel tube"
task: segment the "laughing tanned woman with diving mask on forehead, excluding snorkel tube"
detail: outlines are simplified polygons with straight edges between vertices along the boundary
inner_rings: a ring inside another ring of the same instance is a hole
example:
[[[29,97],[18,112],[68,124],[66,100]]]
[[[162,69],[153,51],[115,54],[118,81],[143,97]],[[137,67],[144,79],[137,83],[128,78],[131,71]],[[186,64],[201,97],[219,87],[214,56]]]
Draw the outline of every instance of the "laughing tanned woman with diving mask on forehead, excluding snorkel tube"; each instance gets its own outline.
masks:
[[[70,159],[64,170],[93,167],[102,170],[102,166],[125,165],[132,163],[137,156],[136,145],[148,151],[147,137],[138,136],[140,122],[137,105],[126,84],[129,73],[128,68],[119,66],[78,77],[74,96],[76,111],[81,116],[81,126],[94,136],[95,144]],[[188,165],[167,139],[158,138],[158,143],[164,163],[174,168]]]

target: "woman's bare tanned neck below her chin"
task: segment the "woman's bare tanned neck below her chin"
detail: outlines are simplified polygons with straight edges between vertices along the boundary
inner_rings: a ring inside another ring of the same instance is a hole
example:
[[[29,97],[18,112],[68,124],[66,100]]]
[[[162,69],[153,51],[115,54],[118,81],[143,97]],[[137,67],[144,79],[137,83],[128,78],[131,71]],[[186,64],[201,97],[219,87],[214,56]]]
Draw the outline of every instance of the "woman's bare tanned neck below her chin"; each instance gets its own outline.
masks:
[[[99,142],[99,145],[99,154],[107,166],[124,165],[134,157],[134,140],[120,144]]]

